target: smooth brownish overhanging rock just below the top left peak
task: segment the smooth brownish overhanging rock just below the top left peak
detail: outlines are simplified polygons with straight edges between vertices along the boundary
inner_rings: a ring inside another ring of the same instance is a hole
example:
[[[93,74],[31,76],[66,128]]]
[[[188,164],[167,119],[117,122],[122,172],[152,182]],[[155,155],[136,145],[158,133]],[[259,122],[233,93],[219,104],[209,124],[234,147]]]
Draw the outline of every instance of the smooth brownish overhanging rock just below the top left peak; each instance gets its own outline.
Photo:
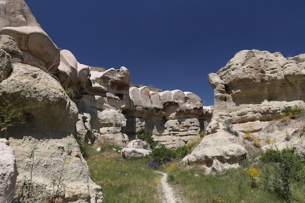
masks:
[[[38,27],[3,27],[0,35],[9,35],[17,42],[24,62],[51,74],[57,72],[59,49],[50,37]]]

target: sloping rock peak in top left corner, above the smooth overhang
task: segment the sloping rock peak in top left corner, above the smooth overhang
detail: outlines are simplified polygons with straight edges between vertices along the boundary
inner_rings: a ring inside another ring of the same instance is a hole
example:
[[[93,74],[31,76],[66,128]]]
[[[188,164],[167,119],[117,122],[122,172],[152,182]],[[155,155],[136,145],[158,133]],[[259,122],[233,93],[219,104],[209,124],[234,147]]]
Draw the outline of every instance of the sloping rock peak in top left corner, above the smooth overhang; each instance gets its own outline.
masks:
[[[21,26],[40,28],[40,25],[24,0],[1,0],[0,29],[3,27]]]

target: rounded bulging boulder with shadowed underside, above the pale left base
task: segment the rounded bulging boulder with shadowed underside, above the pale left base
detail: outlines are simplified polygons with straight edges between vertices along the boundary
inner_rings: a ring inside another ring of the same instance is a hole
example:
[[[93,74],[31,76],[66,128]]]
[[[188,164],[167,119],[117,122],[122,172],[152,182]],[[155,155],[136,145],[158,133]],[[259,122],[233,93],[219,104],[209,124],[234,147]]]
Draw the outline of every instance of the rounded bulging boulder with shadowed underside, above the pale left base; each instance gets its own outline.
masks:
[[[16,99],[16,105],[22,103],[27,120],[22,128],[73,132],[77,107],[59,82],[50,74],[27,64],[13,63],[12,67],[12,74],[0,83],[0,99],[9,94]]]

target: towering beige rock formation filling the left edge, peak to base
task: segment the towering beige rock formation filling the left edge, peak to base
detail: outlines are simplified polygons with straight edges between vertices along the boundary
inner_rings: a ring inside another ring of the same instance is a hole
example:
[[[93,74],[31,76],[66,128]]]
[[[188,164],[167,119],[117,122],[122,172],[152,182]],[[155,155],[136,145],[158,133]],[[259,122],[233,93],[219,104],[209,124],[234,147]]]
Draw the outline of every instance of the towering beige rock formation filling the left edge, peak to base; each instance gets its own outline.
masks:
[[[55,189],[62,203],[101,203],[101,187],[91,181],[74,138],[77,106],[52,75],[60,62],[57,46],[40,28],[23,0],[1,1],[0,10],[0,102],[18,116],[10,123],[16,124],[13,128],[1,126],[4,130],[0,137],[9,137],[15,150],[19,171],[17,191],[23,181],[30,180],[32,173],[37,195],[53,197],[51,183],[60,180]],[[83,82],[83,77],[87,81],[89,68],[78,70],[76,83]],[[30,159],[27,154],[33,143],[37,148]]]

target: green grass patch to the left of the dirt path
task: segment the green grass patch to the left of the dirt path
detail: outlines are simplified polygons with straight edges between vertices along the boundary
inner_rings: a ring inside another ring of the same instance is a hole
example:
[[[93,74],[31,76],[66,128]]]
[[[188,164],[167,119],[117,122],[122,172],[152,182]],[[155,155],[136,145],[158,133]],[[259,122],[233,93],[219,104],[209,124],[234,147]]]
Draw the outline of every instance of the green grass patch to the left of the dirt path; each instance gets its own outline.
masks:
[[[88,152],[91,179],[102,187],[105,203],[160,203],[160,174],[146,168],[150,157],[121,159],[118,152]]]

